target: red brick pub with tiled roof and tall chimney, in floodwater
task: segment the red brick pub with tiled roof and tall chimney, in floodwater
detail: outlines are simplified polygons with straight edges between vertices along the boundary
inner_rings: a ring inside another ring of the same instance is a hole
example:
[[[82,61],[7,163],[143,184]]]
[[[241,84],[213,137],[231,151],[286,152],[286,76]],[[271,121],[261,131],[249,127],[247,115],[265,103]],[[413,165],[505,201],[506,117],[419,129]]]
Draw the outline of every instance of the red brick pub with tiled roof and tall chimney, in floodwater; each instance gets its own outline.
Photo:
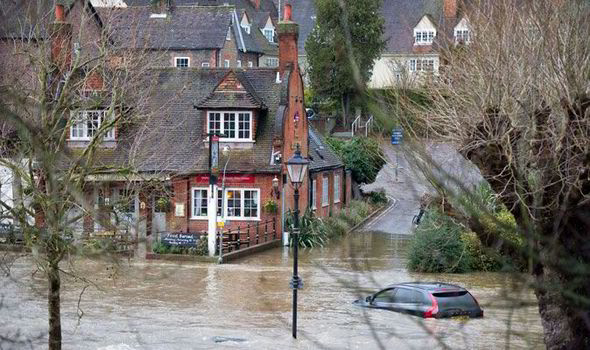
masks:
[[[223,231],[272,230],[267,239],[281,240],[285,215],[294,206],[285,164],[296,149],[310,162],[299,190],[302,214],[309,208],[328,216],[344,208],[351,198],[350,172],[308,125],[299,26],[290,12],[287,5],[278,23],[277,68],[149,70],[145,78],[154,88],[144,108],[155,117],[115,125],[97,151],[96,163],[104,169],[132,164],[133,176],[104,170],[87,177],[89,201],[99,212],[131,194],[122,211],[133,235],[152,241],[164,233],[208,234],[210,255],[218,221]],[[100,114],[95,119],[102,120]],[[79,137],[88,136],[88,125],[72,125],[70,147],[88,142]],[[83,234],[108,230],[90,215],[78,228]]]

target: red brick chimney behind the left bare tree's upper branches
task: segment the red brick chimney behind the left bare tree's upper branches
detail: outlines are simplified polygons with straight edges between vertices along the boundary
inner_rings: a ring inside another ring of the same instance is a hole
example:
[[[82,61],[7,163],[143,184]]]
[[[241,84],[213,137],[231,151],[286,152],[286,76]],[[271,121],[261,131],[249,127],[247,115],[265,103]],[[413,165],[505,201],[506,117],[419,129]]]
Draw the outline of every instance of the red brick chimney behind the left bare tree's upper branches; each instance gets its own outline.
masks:
[[[72,25],[66,22],[64,5],[55,5],[51,27],[51,61],[63,72],[72,63]]]

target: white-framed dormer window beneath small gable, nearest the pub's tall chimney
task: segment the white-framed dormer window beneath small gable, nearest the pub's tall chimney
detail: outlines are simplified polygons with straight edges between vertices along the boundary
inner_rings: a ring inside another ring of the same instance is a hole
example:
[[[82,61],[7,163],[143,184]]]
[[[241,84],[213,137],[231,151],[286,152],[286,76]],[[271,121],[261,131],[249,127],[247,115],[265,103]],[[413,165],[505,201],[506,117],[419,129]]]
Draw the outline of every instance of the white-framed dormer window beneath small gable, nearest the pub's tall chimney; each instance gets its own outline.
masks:
[[[222,141],[252,141],[252,113],[248,111],[210,111],[207,133],[225,135]]]

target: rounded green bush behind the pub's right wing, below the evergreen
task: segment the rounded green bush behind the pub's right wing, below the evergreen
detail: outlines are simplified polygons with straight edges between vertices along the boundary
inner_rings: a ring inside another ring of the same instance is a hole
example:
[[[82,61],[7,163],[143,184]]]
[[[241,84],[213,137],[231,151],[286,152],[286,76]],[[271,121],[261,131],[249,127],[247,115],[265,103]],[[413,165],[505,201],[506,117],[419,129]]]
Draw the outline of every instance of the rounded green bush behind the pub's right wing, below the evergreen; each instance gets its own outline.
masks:
[[[326,143],[342,159],[344,165],[352,171],[352,178],[357,183],[375,181],[377,173],[385,164],[385,157],[377,141],[367,137],[355,137],[344,141],[327,138]]]

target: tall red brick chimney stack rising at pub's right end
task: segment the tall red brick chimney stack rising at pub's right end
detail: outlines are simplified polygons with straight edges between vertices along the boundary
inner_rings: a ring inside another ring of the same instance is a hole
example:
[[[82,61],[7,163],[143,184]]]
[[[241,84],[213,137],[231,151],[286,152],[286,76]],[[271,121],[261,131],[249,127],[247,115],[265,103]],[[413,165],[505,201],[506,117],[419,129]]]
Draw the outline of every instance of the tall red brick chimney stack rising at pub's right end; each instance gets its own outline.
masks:
[[[291,18],[291,5],[285,5],[283,20],[278,24],[279,34],[279,72],[294,69],[297,62],[297,40],[299,39],[299,25]]]

